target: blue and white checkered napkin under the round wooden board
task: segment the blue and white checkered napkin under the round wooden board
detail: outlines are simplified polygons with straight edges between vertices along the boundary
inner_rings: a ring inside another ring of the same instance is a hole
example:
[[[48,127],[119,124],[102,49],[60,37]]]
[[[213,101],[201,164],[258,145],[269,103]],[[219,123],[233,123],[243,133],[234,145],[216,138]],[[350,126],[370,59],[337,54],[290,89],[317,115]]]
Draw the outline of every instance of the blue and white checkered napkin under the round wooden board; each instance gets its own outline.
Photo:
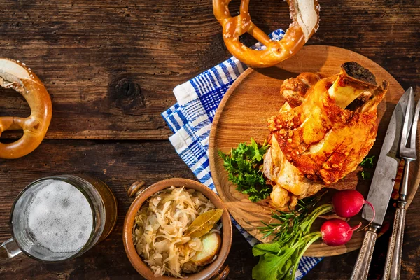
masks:
[[[274,41],[283,38],[284,31],[278,29],[270,34]],[[257,43],[253,48],[264,48]],[[174,88],[178,103],[162,113],[169,128],[174,132],[169,137],[176,152],[193,170],[197,179],[216,192],[209,166],[209,136],[211,123],[219,103],[230,85],[244,72],[246,65],[235,57],[204,71],[197,77]],[[254,246],[253,238],[232,218],[232,223],[246,240]],[[322,258],[303,257],[296,272],[296,279],[309,272]]]

